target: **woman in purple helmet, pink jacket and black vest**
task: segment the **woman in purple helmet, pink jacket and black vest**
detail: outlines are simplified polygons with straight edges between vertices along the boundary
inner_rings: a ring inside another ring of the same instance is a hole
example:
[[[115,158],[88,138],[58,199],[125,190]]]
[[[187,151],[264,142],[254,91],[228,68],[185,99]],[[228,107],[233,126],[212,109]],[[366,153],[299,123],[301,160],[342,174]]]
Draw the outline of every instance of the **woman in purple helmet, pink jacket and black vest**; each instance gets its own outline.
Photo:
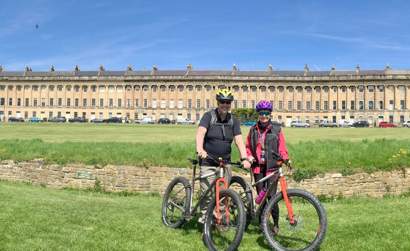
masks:
[[[248,159],[253,165],[253,175],[255,182],[261,180],[272,172],[276,171],[281,165],[278,165],[277,160],[271,150],[279,153],[283,159],[289,160],[288,150],[286,149],[285,138],[283,137],[280,127],[271,124],[271,112],[273,110],[272,104],[269,101],[262,100],[256,105],[258,112],[258,123],[251,128],[247,138],[247,154]],[[256,186],[258,194],[262,189],[268,188],[274,181],[275,176],[269,178],[264,184]],[[277,184],[268,198],[272,198],[276,194]],[[276,212],[276,213],[275,213]],[[273,234],[279,233],[279,208],[276,206],[272,210],[272,217],[274,222]],[[259,216],[259,223],[261,224],[261,216]],[[260,225],[260,230],[262,226]]]

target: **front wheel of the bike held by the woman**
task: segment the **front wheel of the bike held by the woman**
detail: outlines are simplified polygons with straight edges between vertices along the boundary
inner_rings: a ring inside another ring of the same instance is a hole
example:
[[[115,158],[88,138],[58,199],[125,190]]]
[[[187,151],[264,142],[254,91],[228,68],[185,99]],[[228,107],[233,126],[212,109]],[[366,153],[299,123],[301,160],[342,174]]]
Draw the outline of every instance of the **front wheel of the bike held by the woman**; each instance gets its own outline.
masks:
[[[276,250],[315,250],[326,234],[327,218],[323,205],[316,196],[302,189],[288,189],[287,195],[292,203],[295,223],[289,222],[282,192],[277,193],[263,212],[265,239]],[[275,205],[278,205],[279,212]],[[279,216],[277,226],[273,219],[275,214]]]

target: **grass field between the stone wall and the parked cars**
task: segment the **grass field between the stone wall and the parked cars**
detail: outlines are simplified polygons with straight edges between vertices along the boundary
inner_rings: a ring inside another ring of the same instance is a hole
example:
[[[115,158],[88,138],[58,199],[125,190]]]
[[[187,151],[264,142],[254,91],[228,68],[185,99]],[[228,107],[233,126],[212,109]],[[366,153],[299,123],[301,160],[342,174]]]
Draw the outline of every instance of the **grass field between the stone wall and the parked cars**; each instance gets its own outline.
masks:
[[[0,160],[189,167],[186,158],[195,158],[195,126],[0,123],[0,129]],[[242,127],[243,137],[248,130]],[[301,178],[410,166],[408,153],[391,158],[410,149],[410,129],[284,128],[283,133],[295,168],[305,173]],[[236,147],[232,149],[232,160],[238,160]]]

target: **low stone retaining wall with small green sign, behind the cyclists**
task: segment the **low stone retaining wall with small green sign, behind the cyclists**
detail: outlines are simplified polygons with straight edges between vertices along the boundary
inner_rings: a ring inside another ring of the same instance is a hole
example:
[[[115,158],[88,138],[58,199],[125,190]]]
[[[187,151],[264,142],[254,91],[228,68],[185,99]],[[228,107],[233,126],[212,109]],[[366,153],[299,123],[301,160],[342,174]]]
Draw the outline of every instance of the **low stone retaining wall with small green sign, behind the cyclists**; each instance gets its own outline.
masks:
[[[77,171],[93,172],[91,179],[77,178]],[[2,161],[0,164],[0,179],[8,181],[30,182],[45,185],[50,188],[93,188],[96,179],[108,191],[129,191],[163,194],[171,180],[177,176],[192,179],[193,169],[169,167],[132,167],[132,166],[86,166],[82,164],[68,164],[66,166],[46,165],[42,159],[29,162],[14,163],[12,160]],[[198,173],[198,170],[197,170]],[[235,173],[250,183],[250,175]],[[302,182],[288,180],[289,188],[301,188],[317,195],[342,194],[345,197],[353,195],[365,197],[382,197],[388,193],[399,195],[410,190],[410,169],[393,172],[361,173],[342,176],[340,173],[325,174],[306,179]],[[197,182],[196,190],[199,188]],[[195,191],[196,193],[196,191]]]

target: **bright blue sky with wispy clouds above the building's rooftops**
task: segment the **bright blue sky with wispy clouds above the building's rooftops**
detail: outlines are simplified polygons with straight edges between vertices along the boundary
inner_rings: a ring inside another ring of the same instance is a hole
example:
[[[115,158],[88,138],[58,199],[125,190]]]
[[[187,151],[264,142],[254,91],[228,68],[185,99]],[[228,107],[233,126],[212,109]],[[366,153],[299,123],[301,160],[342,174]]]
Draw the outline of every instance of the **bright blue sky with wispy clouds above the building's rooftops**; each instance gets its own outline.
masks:
[[[7,71],[410,69],[408,1],[0,0]],[[38,29],[36,25],[38,24]]]

